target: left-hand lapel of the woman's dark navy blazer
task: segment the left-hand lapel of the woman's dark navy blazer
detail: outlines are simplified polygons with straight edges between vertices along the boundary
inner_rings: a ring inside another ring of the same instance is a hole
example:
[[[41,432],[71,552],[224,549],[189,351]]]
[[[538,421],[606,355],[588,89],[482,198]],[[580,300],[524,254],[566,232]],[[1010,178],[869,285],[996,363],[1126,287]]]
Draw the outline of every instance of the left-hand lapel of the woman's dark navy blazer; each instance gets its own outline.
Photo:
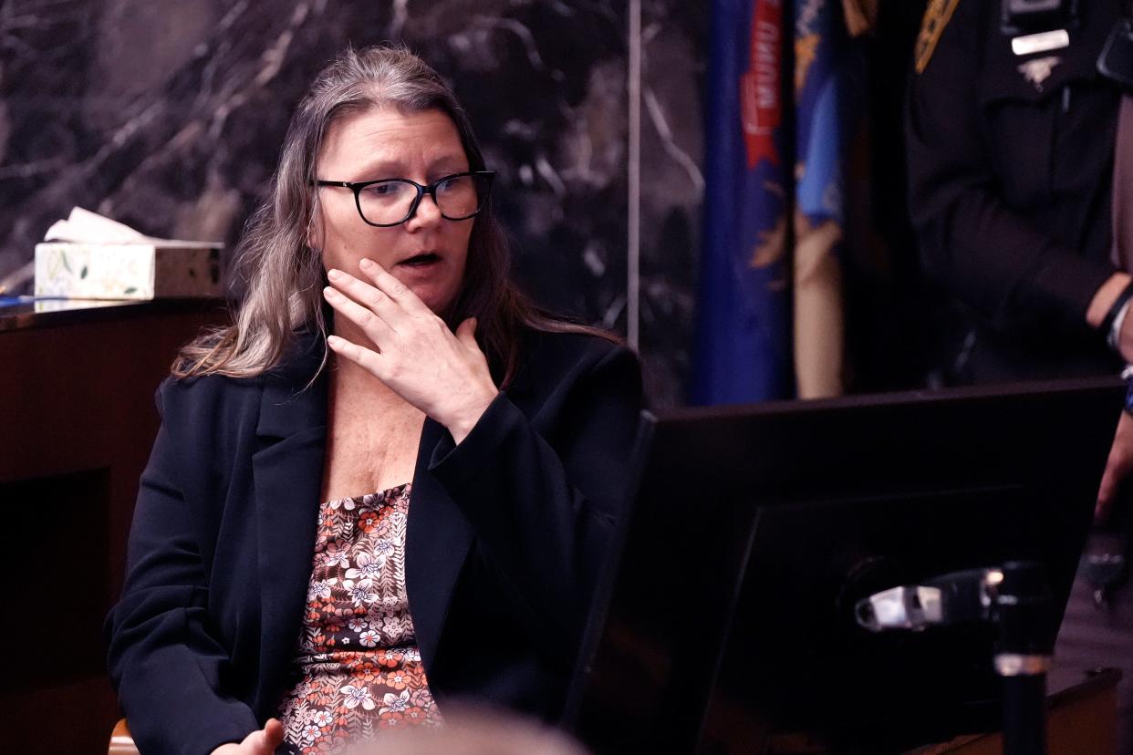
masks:
[[[278,689],[295,651],[310,580],[318,495],[326,449],[326,379],[322,340],[303,340],[299,355],[265,378],[252,457],[262,601],[263,690]],[[278,677],[278,678],[273,678]],[[275,701],[262,701],[274,704]]]

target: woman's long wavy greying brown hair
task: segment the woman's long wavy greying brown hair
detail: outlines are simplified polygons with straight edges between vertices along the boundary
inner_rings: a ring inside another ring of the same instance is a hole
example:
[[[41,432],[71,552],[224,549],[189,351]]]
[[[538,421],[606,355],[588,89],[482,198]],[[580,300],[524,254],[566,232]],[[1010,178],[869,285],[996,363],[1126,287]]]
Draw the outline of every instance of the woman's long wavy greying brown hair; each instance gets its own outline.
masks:
[[[436,71],[404,48],[348,49],[323,69],[299,103],[270,194],[245,228],[236,271],[246,290],[233,324],[204,331],[182,348],[172,367],[176,377],[256,377],[287,357],[297,332],[314,329],[325,341],[325,271],[321,250],[309,243],[318,228],[315,166],[331,126],[374,108],[445,113],[460,134],[469,170],[486,170],[468,115]],[[519,367],[525,328],[617,340],[605,331],[552,317],[519,291],[509,277],[508,238],[491,200],[472,223],[463,285],[443,315],[450,327],[477,318],[477,338],[502,385]],[[324,367],[327,358],[324,348]]]

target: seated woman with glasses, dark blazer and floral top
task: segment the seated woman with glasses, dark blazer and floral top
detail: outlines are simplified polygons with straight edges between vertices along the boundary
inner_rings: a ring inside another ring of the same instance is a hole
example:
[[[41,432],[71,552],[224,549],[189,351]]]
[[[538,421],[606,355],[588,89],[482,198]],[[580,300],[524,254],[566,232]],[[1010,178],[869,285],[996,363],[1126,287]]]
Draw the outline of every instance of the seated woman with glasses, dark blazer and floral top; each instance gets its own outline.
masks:
[[[508,277],[465,111],[348,51],[291,122],[230,327],[186,346],[108,619],[143,753],[326,752],[453,700],[554,720],[641,404]]]

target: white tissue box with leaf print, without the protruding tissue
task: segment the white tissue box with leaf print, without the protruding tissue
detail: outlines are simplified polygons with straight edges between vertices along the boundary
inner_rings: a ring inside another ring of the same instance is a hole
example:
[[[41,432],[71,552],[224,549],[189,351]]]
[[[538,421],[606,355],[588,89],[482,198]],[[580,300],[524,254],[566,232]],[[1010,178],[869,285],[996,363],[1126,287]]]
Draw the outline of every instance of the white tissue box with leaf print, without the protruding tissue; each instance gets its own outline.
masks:
[[[35,295],[76,299],[220,297],[222,244],[196,241],[35,244]]]

